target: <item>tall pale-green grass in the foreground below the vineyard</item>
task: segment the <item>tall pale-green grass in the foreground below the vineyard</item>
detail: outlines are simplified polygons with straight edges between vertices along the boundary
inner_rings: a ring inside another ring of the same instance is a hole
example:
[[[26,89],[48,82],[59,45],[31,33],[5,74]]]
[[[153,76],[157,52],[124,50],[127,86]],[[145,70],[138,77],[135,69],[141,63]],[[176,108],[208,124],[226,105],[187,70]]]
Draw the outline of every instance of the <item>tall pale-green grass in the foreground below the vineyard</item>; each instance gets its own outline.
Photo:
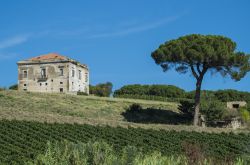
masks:
[[[40,154],[27,165],[212,165],[211,159],[190,162],[184,155],[163,156],[160,152],[143,155],[140,149],[127,146],[121,153],[105,142],[72,143],[68,141],[47,143],[45,153]],[[243,159],[221,164],[244,165]]]

